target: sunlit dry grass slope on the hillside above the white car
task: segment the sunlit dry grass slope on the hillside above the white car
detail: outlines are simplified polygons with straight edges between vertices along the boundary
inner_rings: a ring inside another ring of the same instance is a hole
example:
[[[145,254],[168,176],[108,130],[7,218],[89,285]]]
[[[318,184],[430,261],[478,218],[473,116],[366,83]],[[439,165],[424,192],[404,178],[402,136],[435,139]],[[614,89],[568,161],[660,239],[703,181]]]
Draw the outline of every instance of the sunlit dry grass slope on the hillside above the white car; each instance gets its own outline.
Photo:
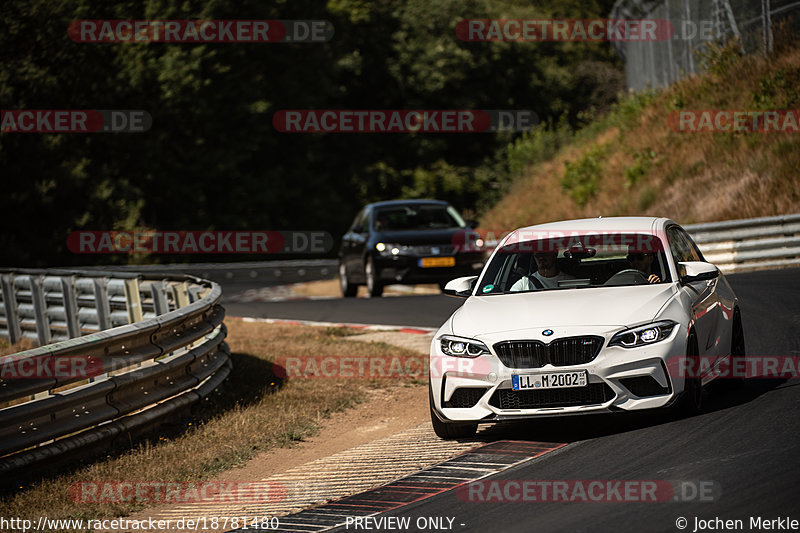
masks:
[[[601,118],[593,125],[598,133],[529,167],[481,227],[498,232],[600,215],[668,216],[688,224],[800,212],[800,134],[691,134],[667,126],[679,109],[800,108],[800,48],[785,46],[769,61],[722,53],[709,72],[639,97],[644,107],[632,117],[618,109]],[[597,146],[607,147],[602,176],[580,206],[561,186],[565,164]],[[638,179],[626,179],[626,170],[637,169],[637,154],[647,154],[648,163]]]

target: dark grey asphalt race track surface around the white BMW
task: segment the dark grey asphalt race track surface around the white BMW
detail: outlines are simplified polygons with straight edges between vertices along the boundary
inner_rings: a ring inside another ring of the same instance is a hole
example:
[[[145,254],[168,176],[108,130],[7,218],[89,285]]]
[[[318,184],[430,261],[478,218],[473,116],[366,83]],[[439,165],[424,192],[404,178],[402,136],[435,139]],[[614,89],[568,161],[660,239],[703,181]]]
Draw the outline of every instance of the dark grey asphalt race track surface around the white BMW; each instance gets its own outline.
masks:
[[[748,354],[800,357],[800,269],[728,279],[741,302]],[[231,305],[228,312],[435,327],[459,303],[444,296],[417,296],[242,304]],[[751,517],[783,518],[772,529],[796,530],[800,527],[798,385],[796,379],[761,379],[738,391],[712,389],[702,414],[688,419],[662,414],[572,417],[496,426],[479,433],[488,441],[569,443],[489,481],[678,480],[684,482],[687,498],[701,501],[486,503],[468,501],[463,493],[459,497],[450,490],[381,516],[410,517],[412,527],[407,531],[417,530],[419,517],[453,518],[454,531],[691,532],[696,518],[740,519],[743,527],[735,530],[759,530],[750,528]],[[693,487],[702,486],[716,487],[713,496],[693,494]],[[798,521],[795,528],[786,517]],[[687,520],[685,528],[676,526],[680,518]],[[712,528],[726,530],[719,523],[712,523]],[[358,530],[352,524],[340,529]]]

